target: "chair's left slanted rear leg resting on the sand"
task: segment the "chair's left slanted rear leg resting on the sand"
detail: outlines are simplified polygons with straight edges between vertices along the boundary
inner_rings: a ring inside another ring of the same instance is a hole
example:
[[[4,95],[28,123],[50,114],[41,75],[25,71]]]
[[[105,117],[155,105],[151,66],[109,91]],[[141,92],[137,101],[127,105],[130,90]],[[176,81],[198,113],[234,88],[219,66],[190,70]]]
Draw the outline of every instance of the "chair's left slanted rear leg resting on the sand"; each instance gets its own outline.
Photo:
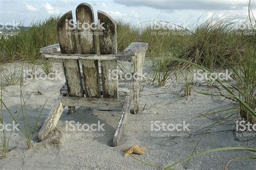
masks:
[[[59,98],[57,99],[55,105],[50,110],[48,117],[45,119],[44,124],[38,133],[39,141],[42,141],[45,138],[47,138],[57,126],[60,115],[62,115],[62,112],[65,107],[62,105],[61,98],[62,98],[62,94],[59,95]]]

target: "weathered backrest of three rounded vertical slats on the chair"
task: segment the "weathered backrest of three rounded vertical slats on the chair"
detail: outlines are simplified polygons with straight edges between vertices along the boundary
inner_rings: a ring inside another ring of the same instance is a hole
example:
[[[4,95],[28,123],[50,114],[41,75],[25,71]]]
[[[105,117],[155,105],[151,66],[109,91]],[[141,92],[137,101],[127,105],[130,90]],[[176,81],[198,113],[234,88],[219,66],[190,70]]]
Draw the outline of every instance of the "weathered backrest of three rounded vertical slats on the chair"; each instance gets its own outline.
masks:
[[[99,35],[100,54],[115,55],[117,53],[116,24],[109,15],[98,11],[97,26],[92,6],[81,3],[76,8],[76,20],[77,32],[73,24],[72,11],[65,13],[57,23],[61,53],[97,54],[96,35]],[[80,70],[80,65],[82,65],[82,70]],[[100,97],[98,65],[98,60],[82,59],[79,62],[77,59],[63,59],[69,96]],[[113,74],[109,77],[109,72],[117,71],[117,60],[102,60],[100,65],[103,97],[118,98],[118,77],[117,75],[113,77]]]

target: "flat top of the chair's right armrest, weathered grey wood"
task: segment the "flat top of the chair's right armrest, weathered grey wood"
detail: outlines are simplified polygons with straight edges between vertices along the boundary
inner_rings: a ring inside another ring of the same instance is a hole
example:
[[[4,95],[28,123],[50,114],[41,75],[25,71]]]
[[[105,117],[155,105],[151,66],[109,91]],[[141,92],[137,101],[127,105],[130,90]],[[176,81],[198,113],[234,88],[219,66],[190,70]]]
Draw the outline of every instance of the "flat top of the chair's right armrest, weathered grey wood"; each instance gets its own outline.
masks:
[[[138,55],[139,52],[145,52],[149,44],[147,43],[131,43],[125,50],[125,55]]]

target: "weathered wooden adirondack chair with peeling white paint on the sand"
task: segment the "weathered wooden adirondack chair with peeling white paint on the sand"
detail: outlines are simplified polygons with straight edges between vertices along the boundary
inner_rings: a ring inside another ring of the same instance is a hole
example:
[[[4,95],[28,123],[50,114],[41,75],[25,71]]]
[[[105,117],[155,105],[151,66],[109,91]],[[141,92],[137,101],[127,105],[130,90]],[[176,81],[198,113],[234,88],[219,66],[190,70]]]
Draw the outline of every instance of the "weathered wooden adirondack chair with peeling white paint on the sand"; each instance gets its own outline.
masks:
[[[95,26],[92,6],[87,3],[79,4],[76,8],[76,19],[77,23]],[[41,49],[43,57],[62,60],[66,78],[58,100],[39,131],[38,139],[41,141],[49,137],[55,129],[65,106],[68,106],[70,114],[75,112],[76,106],[118,108],[122,109],[122,114],[113,137],[113,146],[117,146],[124,133],[132,101],[134,113],[139,111],[138,78],[142,74],[147,43],[132,43],[124,52],[117,54],[116,24],[102,11],[98,11],[98,22],[103,26],[98,30],[101,32],[98,42],[99,53],[97,53],[95,27],[77,28],[78,32],[75,32],[72,29],[72,11],[65,13],[57,23],[59,44]],[[77,44],[79,44],[78,48]],[[123,100],[118,94],[118,76],[111,78],[109,75],[109,71],[117,71],[117,60],[129,61],[133,68],[132,87]],[[82,69],[80,69],[81,65]]]

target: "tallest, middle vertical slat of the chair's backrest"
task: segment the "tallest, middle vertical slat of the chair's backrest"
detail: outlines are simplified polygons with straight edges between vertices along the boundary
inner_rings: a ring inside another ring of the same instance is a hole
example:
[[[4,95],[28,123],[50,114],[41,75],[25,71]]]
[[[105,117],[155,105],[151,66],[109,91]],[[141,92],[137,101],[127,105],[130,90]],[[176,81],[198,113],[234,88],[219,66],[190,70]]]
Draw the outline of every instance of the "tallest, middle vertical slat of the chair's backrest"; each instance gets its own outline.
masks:
[[[92,6],[81,3],[76,8],[80,53],[97,54],[95,21]],[[91,25],[91,26],[89,26]],[[82,60],[86,97],[100,97],[98,60]]]

